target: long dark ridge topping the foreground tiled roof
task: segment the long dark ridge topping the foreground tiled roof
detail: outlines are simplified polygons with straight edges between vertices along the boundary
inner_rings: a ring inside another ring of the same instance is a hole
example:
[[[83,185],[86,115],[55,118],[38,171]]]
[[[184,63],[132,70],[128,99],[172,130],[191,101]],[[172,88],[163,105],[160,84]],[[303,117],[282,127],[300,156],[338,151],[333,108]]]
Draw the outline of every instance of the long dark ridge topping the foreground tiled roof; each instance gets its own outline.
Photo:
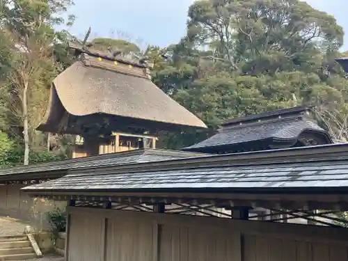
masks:
[[[331,151],[331,149],[333,150]],[[311,153],[308,153],[308,150]],[[338,156],[339,153],[339,156]],[[301,157],[302,156],[302,157]],[[306,157],[303,157],[306,156]],[[294,159],[294,157],[298,157]],[[253,161],[253,159],[260,159],[260,161]],[[146,171],[163,171],[163,170],[189,170],[191,168],[213,168],[218,166],[246,166],[246,165],[269,165],[282,163],[300,163],[300,162],[319,162],[319,161],[333,161],[333,160],[347,160],[348,159],[348,143],[347,144],[331,144],[331,145],[317,145],[301,148],[287,148],[277,150],[263,150],[253,152],[232,153],[230,155],[207,155],[205,157],[192,157],[182,159],[172,159],[165,161],[148,161],[127,164],[123,166],[106,166],[107,171],[100,170],[106,175],[122,174],[132,172]],[[93,175],[100,175],[96,168],[103,168],[103,166],[88,167],[90,173]],[[80,172],[85,172],[87,168],[79,168],[74,171],[79,176]],[[80,173],[81,174],[81,173]],[[90,174],[88,174],[89,176]],[[68,176],[75,176],[72,173]],[[81,175],[83,176],[83,175]]]

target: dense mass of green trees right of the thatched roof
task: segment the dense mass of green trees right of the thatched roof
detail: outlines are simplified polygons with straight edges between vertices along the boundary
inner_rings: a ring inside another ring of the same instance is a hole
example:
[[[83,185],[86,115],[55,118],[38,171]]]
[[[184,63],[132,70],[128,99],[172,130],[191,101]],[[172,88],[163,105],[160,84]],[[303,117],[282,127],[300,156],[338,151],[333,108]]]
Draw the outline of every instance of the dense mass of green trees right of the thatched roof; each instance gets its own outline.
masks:
[[[334,17],[303,1],[196,1],[187,36],[166,49],[153,80],[209,129],[172,134],[166,146],[196,143],[229,118],[301,104],[343,118],[348,84],[334,61],[342,39]]]

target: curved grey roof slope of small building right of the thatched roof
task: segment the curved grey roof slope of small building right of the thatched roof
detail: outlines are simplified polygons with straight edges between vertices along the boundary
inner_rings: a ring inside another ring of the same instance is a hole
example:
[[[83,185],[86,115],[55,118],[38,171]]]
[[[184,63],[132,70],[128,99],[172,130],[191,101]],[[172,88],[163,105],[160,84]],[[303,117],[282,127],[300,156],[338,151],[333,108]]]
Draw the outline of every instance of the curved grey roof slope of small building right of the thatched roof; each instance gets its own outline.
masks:
[[[326,134],[324,129],[320,128],[312,120],[292,118],[284,121],[260,122],[253,125],[224,128],[209,139],[184,148],[184,150],[194,151],[199,148],[235,145],[250,141],[263,141],[265,139],[291,140],[297,139],[305,130]]]

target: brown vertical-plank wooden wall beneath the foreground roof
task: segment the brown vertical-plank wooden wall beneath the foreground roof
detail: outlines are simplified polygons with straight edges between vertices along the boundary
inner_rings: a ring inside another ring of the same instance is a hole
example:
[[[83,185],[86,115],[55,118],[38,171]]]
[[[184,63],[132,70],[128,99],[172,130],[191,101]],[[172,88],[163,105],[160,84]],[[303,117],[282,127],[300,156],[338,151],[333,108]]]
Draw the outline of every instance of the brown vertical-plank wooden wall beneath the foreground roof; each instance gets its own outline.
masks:
[[[347,228],[81,207],[69,212],[68,261],[348,260]]]

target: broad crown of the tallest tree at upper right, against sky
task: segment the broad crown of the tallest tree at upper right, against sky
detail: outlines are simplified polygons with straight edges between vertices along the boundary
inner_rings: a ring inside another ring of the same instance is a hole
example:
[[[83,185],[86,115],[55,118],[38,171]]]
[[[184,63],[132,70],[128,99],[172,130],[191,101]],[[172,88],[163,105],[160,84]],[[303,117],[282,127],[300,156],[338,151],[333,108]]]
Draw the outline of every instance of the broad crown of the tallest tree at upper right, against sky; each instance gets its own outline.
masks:
[[[197,1],[189,8],[187,35],[234,70],[264,55],[294,60],[317,42],[337,50],[343,41],[334,17],[297,0]]]

